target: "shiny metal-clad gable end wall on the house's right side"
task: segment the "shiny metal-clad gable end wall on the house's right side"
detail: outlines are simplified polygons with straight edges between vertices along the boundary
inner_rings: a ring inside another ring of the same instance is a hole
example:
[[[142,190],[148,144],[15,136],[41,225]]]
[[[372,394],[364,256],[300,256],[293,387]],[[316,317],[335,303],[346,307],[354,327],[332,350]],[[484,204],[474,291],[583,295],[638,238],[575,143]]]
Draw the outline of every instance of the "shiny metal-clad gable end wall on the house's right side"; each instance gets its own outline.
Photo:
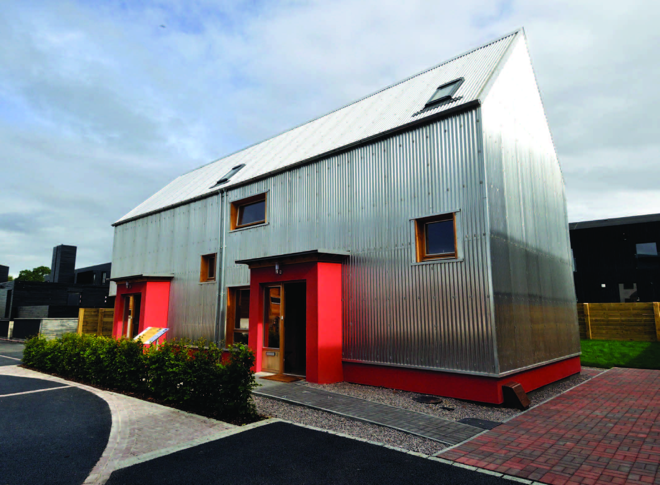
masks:
[[[482,105],[500,372],[580,351],[564,179],[521,39]]]

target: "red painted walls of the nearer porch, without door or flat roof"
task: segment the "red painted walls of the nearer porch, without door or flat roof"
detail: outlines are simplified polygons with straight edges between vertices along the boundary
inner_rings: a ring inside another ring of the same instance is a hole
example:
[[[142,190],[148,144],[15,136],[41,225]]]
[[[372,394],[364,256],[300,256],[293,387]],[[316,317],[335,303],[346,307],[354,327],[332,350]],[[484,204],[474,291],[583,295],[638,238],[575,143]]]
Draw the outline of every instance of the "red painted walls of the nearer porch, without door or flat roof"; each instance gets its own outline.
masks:
[[[248,345],[255,351],[254,370],[261,370],[263,349],[264,286],[270,283],[305,281],[306,379],[330,384],[343,380],[341,363],[341,264],[298,263],[250,270]]]

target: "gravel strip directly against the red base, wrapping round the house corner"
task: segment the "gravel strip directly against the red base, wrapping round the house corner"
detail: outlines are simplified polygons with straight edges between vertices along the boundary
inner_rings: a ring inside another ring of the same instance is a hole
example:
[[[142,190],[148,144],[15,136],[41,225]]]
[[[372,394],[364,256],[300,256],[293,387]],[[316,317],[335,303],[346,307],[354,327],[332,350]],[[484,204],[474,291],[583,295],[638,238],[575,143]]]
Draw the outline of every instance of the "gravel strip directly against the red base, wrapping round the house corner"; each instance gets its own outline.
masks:
[[[596,375],[596,372],[602,372],[603,370],[605,369],[583,367],[582,372],[579,374],[531,391],[527,394],[527,397],[529,397],[531,406],[541,404],[563,391],[591,379]],[[413,397],[420,395],[420,393],[399,391],[398,389],[388,389],[387,387],[375,387],[372,385],[350,384],[350,382],[324,385],[308,382],[306,385],[317,389],[324,389],[325,391],[360,397],[361,399],[367,399],[376,403],[400,407],[409,411],[430,414],[431,416],[438,416],[452,421],[463,418],[480,418],[504,422],[521,413],[518,409],[501,407],[500,405],[475,403],[473,401],[462,401],[461,399],[453,399],[451,397],[443,397],[442,404],[440,405],[416,403],[413,401]],[[453,407],[454,411],[446,411],[440,406]]]

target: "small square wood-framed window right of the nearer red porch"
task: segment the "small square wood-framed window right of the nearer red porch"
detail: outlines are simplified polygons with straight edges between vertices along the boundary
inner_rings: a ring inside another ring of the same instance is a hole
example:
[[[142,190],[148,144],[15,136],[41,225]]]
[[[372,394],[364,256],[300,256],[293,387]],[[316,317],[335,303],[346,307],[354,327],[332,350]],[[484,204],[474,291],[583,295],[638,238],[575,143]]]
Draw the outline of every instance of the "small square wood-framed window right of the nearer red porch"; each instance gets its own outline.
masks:
[[[417,262],[456,258],[456,216],[432,215],[415,219]]]

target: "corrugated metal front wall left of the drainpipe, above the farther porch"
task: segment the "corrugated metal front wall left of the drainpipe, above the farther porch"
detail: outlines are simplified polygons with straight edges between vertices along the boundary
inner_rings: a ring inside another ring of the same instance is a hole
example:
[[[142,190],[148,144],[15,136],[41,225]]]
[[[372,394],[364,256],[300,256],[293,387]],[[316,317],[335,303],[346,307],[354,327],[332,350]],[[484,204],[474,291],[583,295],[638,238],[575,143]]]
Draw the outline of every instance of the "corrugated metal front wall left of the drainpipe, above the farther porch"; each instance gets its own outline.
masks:
[[[217,195],[115,227],[112,277],[174,273],[168,338],[215,337],[218,286],[199,283],[199,268],[218,252],[219,231]]]

